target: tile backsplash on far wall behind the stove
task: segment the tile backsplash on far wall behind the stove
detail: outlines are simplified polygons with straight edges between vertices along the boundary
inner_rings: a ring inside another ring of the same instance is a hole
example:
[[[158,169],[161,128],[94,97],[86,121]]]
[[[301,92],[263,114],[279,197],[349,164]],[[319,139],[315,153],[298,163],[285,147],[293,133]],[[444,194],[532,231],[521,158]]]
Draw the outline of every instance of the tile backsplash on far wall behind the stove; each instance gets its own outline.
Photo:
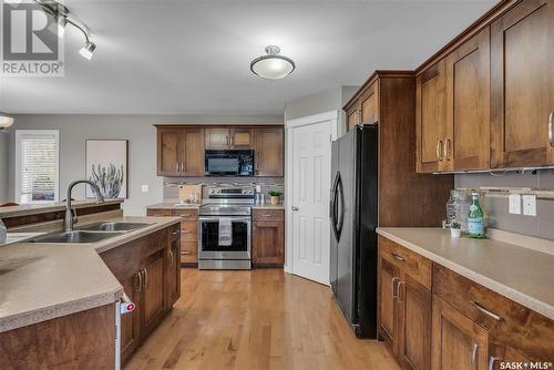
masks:
[[[164,178],[164,199],[176,199],[178,195],[178,185],[183,184],[203,184],[203,198],[206,197],[206,188],[211,185],[260,185],[261,193],[269,191],[279,191],[285,193],[285,181],[283,177],[165,177]],[[281,196],[283,198],[283,196]],[[269,202],[269,199],[266,199]]]

